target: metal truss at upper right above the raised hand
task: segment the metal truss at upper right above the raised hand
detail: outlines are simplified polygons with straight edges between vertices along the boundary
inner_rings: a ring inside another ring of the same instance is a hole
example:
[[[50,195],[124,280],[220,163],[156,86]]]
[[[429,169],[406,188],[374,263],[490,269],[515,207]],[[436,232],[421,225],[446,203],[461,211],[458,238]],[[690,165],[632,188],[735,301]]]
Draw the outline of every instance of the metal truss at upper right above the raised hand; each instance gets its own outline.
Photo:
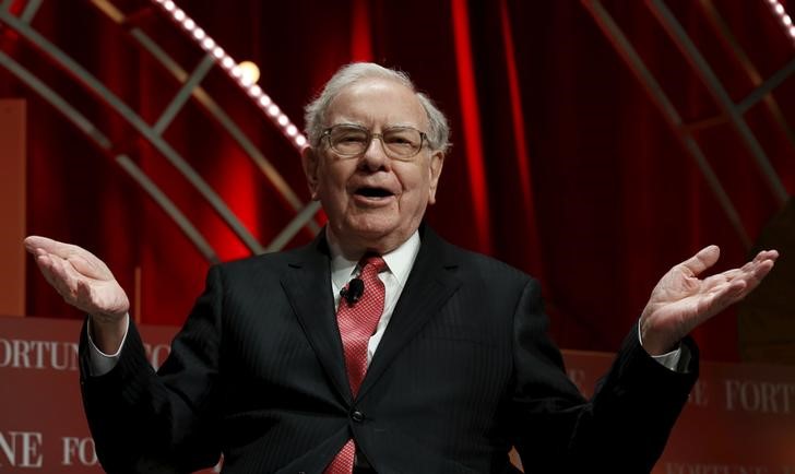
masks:
[[[795,27],[792,19],[786,14],[784,8],[778,0],[758,0],[761,7],[766,4],[771,7],[772,14],[779,16],[784,34],[795,42]],[[734,60],[739,64],[741,70],[748,75],[755,90],[740,100],[733,99],[725,84],[704,55],[696,46],[683,24],[677,20],[672,10],[663,0],[645,0],[644,4],[650,10],[654,19],[658,22],[671,40],[676,45],[683,58],[699,80],[704,84],[713,100],[717,105],[720,114],[715,117],[704,118],[695,122],[686,122],[683,119],[684,114],[677,110],[674,100],[665,93],[661,85],[660,79],[655,78],[648,64],[641,58],[641,55],[632,45],[627,34],[617,24],[614,16],[610,15],[601,0],[582,0],[583,5],[596,21],[597,25],[610,42],[613,47],[619,54],[621,59],[627,63],[629,69],[640,81],[649,96],[652,98],[656,107],[662,112],[665,120],[676,133],[681,142],[683,147],[696,161],[701,174],[707,180],[712,193],[715,195],[721,209],[731,222],[737,237],[746,248],[750,248],[752,242],[748,230],[740,221],[737,209],[729,198],[729,193],[721,183],[714,169],[710,165],[702,146],[699,144],[697,131],[712,128],[715,126],[729,123],[734,131],[738,134],[745,147],[754,157],[759,171],[763,176],[770,191],[779,203],[780,208],[790,199],[784,185],[771,165],[770,157],[763,150],[759,139],[754,133],[746,121],[745,114],[755,105],[764,102],[771,116],[775,119],[776,125],[781,128],[782,133],[788,139],[790,145],[795,150],[795,134],[792,127],[786,122],[781,107],[772,96],[773,90],[781,85],[785,79],[795,72],[795,55],[779,71],[767,79],[762,79],[761,74],[750,61],[749,56],[740,47],[737,38],[728,27],[727,22],[723,19],[712,0],[699,0],[699,5],[703,10],[704,15],[709,20],[709,24],[713,28],[715,35],[720,37],[724,45],[728,46]]]

